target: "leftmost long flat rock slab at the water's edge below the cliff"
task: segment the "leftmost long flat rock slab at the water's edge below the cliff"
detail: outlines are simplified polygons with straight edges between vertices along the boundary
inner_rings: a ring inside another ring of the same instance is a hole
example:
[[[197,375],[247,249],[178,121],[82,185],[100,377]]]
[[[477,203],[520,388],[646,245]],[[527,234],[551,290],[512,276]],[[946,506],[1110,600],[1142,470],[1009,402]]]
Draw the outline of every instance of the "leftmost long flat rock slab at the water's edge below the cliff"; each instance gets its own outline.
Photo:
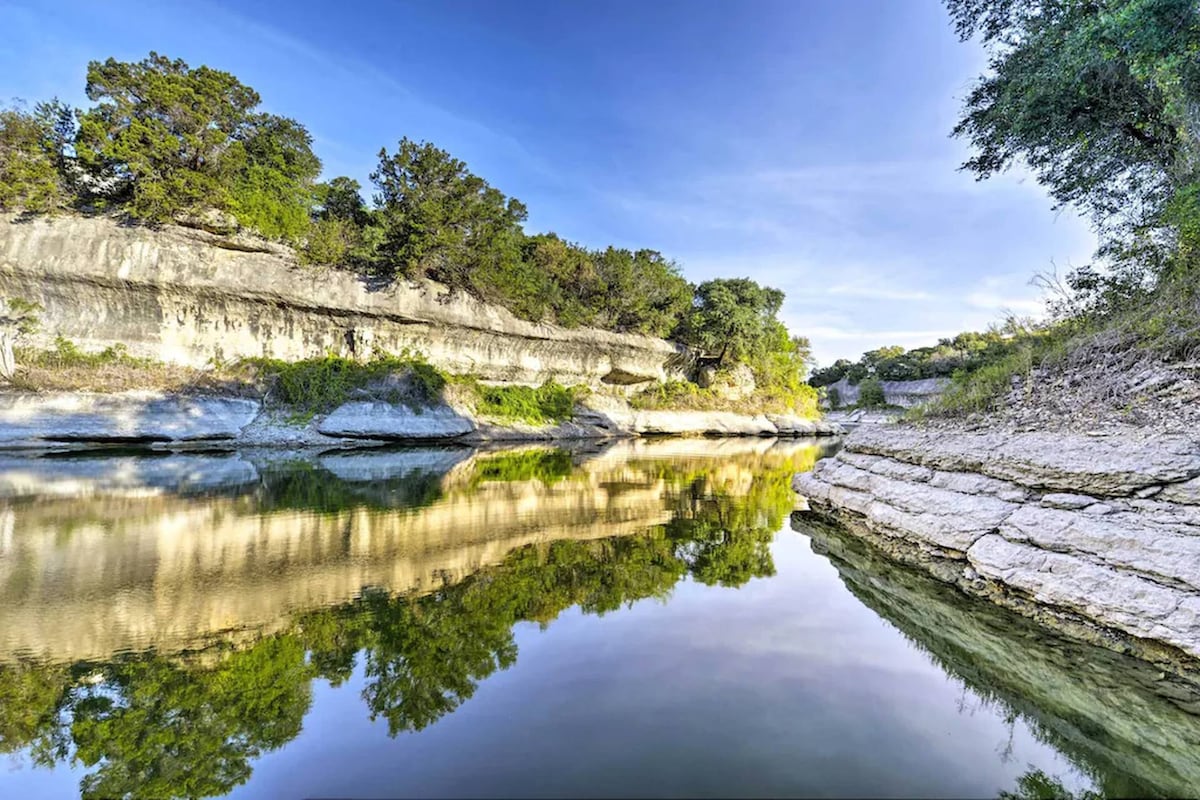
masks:
[[[0,444],[233,439],[259,402],[152,392],[0,395]]]

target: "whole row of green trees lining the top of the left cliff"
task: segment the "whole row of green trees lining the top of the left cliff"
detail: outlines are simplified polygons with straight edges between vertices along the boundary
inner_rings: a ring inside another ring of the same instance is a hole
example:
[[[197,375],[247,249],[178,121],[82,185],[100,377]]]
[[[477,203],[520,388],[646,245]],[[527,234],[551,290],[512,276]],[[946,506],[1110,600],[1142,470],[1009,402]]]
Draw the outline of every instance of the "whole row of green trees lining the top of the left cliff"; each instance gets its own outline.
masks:
[[[782,293],[746,278],[689,283],[653,249],[589,249],[528,235],[526,206],[430,143],[379,151],[372,201],[320,182],[300,122],[258,110],[228,72],[157,53],[88,67],[92,106],[0,110],[0,209],[191,218],[284,241],[310,264],[442,282],[517,315],[684,342],[718,366],[780,363],[803,383],[808,342],[776,318]],[[760,372],[762,372],[760,369]]]

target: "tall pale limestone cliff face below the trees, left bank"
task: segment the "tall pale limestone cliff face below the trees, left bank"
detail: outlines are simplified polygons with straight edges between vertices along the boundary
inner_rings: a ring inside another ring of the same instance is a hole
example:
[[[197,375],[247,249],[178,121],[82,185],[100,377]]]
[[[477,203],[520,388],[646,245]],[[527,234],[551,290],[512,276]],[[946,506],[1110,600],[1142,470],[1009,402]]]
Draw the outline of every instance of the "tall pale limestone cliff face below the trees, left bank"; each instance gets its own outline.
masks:
[[[41,303],[41,335],[84,349],[204,366],[335,353],[421,353],[442,369],[536,385],[637,385],[684,377],[688,353],[662,339],[529,323],[434,283],[372,285],[248,252],[202,230],[107,218],[0,217],[0,295]]]

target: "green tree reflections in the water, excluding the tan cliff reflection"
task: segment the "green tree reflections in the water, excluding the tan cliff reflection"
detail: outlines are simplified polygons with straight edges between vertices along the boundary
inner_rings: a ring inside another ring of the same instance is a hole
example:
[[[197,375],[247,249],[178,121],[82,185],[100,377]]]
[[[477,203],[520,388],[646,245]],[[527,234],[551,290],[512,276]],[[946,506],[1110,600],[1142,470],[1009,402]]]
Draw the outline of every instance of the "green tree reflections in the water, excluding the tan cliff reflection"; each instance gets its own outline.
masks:
[[[421,730],[515,663],[517,622],[547,625],[571,607],[605,614],[665,597],[685,576],[739,587],[774,575],[769,545],[791,509],[793,469],[764,469],[737,492],[704,470],[666,470],[673,513],[664,525],[524,547],[432,594],[368,590],[302,613],[248,648],[0,668],[0,752],[88,768],[85,798],[221,795],[248,780],[256,758],[300,733],[313,679],[336,686],[359,663],[371,717],[386,720],[392,735]],[[493,459],[479,480],[557,480],[566,471],[569,462],[551,453]],[[280,470],[272,501],[343,505],[347,498],[320,477]],[[421,500],[427,494],[419,492]]]

